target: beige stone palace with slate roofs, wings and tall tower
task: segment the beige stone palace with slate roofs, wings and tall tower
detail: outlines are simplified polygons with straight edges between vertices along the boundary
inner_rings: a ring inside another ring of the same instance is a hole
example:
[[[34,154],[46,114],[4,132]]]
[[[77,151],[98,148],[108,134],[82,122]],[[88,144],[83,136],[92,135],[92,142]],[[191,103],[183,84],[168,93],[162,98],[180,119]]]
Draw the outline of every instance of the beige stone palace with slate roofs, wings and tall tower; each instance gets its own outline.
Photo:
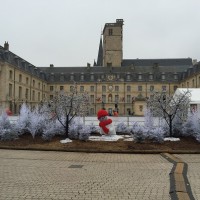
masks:
[[[0,109],[18,114],[23,102],[31,107],[52,99],[56,91],[70,92],[77,83],[90,97],[89,114],[105,108],[119,115],[144,114],[152,91],[172,95],[177,88],[200,88],[200,63],[191,58],[124,59],[123,19],[106,23],[97,62],[83,67],[37,67],[0,46]]]

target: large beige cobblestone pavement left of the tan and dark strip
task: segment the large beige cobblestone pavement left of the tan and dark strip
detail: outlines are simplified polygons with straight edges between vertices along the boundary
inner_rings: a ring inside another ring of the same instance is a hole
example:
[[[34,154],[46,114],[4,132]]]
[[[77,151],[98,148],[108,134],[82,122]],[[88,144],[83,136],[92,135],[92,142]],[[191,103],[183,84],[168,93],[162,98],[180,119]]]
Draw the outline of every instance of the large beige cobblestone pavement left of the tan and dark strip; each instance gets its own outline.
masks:
[[[0,199],[169,200],[172,166],[160,155],[0,150]]]

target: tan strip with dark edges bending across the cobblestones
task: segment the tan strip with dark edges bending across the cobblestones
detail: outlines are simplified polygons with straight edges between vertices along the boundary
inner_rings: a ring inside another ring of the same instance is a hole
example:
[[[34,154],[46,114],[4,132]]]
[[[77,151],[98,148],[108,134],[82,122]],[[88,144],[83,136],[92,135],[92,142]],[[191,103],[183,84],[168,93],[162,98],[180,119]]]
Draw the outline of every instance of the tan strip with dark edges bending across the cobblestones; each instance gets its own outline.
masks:
[[[190,183],[187,178],[188,165],[182,159],[169,153],[161,154],[174,166],[170,176],[170,195],[172,200],[195,200],[192,194]]]

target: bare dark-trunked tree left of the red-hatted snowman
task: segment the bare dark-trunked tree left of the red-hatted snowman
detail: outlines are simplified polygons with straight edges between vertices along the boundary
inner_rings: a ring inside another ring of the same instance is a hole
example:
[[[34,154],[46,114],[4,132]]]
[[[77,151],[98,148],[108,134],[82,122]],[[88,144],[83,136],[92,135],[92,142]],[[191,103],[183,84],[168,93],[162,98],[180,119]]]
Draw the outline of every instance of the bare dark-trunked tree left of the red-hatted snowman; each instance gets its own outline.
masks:
[[[68,137],[69,125],[75,116],[86,116],[89,110],[89,96],[87,92],[78,92],[75,83],[70,88],[70,92],[56,92],[55,96],[49,102],[52,111],[52,117],[65,128]]]

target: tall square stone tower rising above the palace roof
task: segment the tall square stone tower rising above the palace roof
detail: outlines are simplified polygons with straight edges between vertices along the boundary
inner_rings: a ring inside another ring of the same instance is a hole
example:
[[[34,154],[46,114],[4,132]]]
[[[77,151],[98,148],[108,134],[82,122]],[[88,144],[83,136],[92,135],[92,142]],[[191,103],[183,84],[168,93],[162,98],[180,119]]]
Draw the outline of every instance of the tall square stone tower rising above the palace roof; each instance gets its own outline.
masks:
[[[106,23],[103,29],[103,66],[121,67],[123,59],[123,19]]]

